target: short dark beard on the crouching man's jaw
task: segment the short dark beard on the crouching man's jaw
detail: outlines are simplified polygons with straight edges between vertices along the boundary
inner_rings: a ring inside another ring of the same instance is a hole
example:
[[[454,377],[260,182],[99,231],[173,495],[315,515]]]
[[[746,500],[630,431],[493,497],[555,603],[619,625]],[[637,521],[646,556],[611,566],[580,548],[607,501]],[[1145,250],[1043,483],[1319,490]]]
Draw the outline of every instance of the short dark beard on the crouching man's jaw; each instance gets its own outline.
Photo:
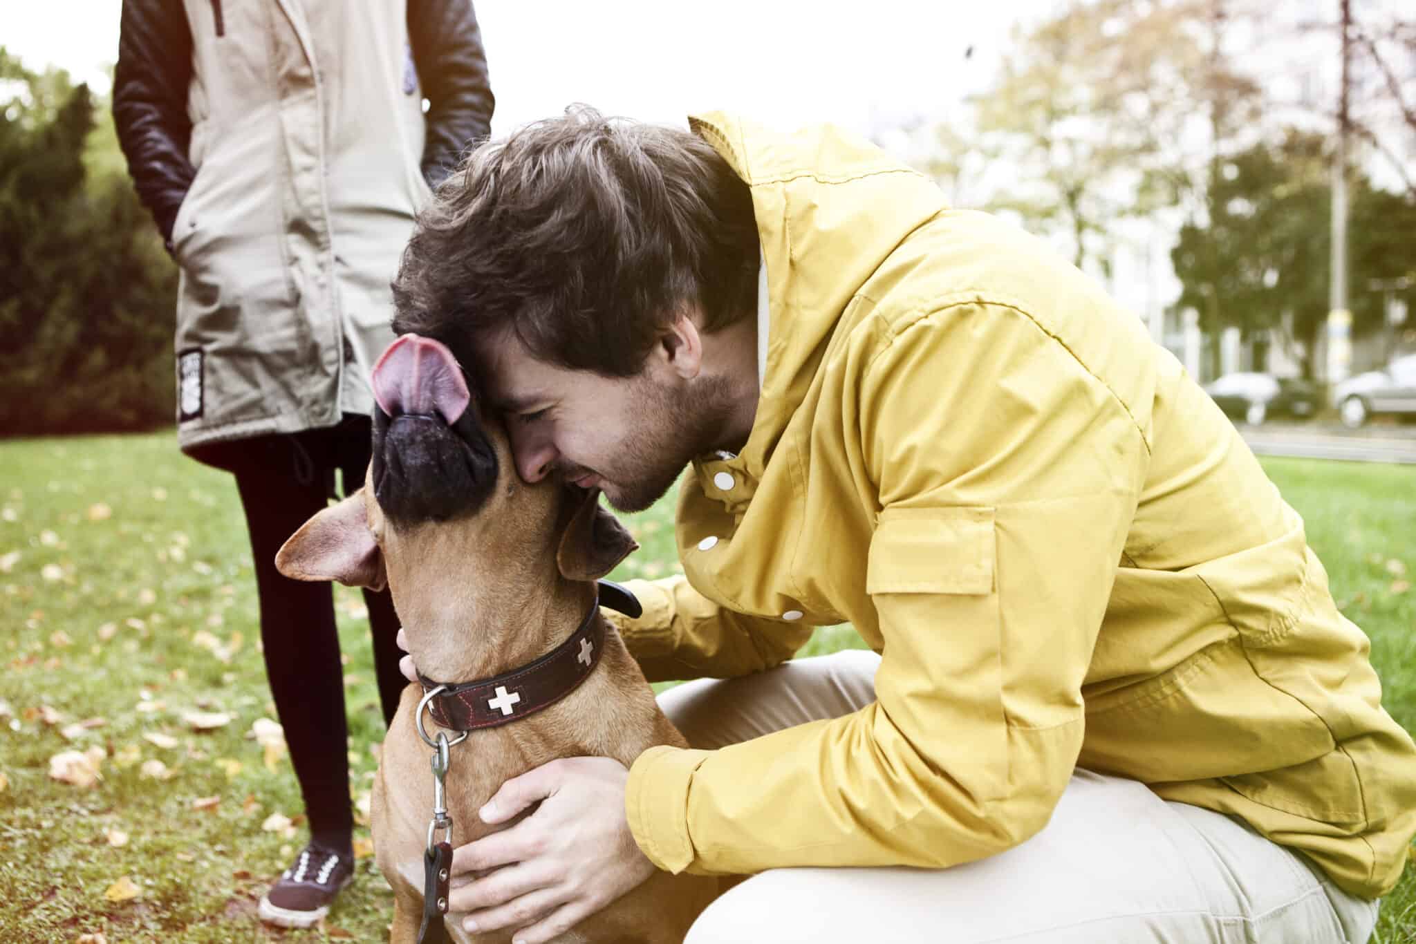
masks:
[[[650,508],[678,481],[688,463],[715,449],[731,409],[728,381],[722,376],[701,379],[691,396],[647,378],[640,389],[643,423],[620,443],[615,478],[600,481],[606,501],[623,512]]]

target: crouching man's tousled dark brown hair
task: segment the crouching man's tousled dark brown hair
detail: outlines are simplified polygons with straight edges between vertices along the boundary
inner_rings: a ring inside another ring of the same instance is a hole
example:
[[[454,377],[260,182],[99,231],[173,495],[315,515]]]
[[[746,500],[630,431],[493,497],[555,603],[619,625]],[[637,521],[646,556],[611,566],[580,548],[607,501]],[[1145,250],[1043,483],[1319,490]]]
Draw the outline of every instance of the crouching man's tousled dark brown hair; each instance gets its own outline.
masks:
[[[510,330],[549,364],[629,376],[690,307],[705,333],[752,316],[758,252],[752,197],[712,146],[578,106],[439,187],[394,280],[394,330],[464,362]]]

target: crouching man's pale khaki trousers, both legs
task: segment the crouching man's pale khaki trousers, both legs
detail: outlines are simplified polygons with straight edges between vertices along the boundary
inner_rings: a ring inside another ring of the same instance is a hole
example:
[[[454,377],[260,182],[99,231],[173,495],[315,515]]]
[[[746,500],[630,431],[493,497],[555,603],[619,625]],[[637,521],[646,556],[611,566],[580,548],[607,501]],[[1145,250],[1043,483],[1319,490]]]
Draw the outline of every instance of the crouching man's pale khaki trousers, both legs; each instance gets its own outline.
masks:
[[[878,657],[837,652],[660,695],[695,747],[852,712]],[[1364,944],[1376,903],[1301,855],[1143,784],[1078,770],[1051,822],[952,869],[770,869],[714,902],[687,944]]]

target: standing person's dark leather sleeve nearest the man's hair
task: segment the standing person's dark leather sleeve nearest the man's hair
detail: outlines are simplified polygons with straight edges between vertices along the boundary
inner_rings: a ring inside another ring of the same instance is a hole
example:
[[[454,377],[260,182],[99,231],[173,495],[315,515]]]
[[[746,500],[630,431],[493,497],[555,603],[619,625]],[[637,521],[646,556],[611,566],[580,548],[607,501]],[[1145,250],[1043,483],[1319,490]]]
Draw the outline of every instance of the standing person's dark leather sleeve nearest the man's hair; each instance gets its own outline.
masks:
[[[438,187],[491,133],[491,81],[472,0],[408,0],[408,41],[429,102],[422,171]]]

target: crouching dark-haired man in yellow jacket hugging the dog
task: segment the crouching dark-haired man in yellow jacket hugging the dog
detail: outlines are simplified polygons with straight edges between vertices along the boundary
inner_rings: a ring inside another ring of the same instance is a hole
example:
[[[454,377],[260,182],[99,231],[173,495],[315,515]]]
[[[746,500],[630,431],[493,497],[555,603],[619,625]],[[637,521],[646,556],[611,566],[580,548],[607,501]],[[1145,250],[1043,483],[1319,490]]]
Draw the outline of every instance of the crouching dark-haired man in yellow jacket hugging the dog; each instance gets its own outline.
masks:
[[[1232,425],[878,149],[690,127],[483,147],[395,283],[525,480],[639,510],[691,464],[685,573],[620,628],[704,679],[663,696],[694,749],[508,781],[484,819],[539,807],[453,909],[534,944],[658,868],[753,876],[691,941],[1365,941],[1416,747]],[[875,654],[787,662],[843,621]]]

